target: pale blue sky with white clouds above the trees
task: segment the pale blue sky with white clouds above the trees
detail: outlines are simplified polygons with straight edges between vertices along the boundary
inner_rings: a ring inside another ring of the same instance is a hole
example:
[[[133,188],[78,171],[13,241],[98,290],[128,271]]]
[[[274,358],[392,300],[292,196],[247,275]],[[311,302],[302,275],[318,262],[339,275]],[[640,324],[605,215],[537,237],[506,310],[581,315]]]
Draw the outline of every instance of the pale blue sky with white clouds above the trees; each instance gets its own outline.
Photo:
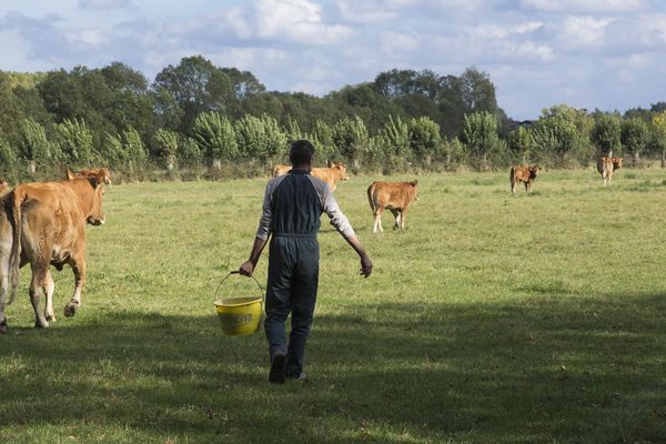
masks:
[[[662,0],[0,0],[0,70],[102,68],[150,82],[181,58],[324,95],[391,69],[487,72],[508,117],[666,101]]]

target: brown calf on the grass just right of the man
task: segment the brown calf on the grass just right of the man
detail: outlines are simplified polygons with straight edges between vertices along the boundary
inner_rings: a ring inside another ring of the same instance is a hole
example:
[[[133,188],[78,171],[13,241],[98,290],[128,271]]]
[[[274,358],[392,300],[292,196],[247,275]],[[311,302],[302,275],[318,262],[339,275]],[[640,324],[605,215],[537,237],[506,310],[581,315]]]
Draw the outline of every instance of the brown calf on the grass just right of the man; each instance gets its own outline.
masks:
[[[375,218],[372,231],[384,232],[382,228],[382,212],[389,209],[395,218],[394,230],[405,229],[405,218],[410,203],[417,200],[418,181],[412,182],[372,182],[367,188],[367,200],[372,214]]]

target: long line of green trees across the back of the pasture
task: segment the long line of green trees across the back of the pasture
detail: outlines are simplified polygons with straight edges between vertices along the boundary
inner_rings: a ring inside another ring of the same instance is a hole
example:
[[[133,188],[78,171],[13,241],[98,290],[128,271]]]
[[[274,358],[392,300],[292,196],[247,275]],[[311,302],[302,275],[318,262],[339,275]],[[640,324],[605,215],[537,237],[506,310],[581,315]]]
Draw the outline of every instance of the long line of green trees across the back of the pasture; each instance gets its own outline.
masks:
[[[568,168],[609,153],[636,165],[660,155],[664,167],[666,103],[624,114],[561,104],[517,122],[475,68],[460,75],[391,70],[321,98],[268,91],[251,72],[201,56],[152,82],[120,62],[0,71],[0,174],[13,181],[89,165],[128,179],[265,174],[297,139],[315,144],[319,163],[384,173]]]

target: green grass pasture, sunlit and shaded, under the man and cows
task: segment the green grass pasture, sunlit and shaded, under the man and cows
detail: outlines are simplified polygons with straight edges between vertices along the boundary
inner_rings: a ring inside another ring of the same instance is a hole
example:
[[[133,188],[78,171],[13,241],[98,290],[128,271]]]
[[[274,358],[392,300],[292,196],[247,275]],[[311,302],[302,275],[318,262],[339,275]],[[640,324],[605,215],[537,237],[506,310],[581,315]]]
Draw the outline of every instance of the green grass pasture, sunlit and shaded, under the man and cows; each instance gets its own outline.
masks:
[[[263,333],[224,336],[212,304],[265,179],[113,186],[75,317],[33,329],[22,271],[0,443],[666,442],[666,172],[604,188],[547,171],[516,196],[507,175],[420,176],[407,230],[386,214],[384,234],[374,178],[340,184],[374,273],[324,216],[310,379],[283,386]],[[54,278],[61,313],[73,279]],[[233,276],[220,295],[255,286]]]

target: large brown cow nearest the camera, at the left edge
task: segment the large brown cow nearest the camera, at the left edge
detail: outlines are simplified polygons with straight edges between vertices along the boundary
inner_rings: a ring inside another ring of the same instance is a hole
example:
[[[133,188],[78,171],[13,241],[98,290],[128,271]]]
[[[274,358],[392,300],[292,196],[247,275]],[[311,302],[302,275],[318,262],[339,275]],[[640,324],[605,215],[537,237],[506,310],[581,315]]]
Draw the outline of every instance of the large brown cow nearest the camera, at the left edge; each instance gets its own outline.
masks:
[[[49,265],[58,270],[65,264],[71,266],[75,285],[64,315],[74,315],[85,284],[85,223],[99,225],[105,219],[103,182],[100,172],[97,178],[26,183],[0,198],[0,333],[7,330],[7,293],[10,292],[10,304],[19,285],[19,268],[27,263],[32,269],[29,293],[36,326],[46,327],[48,321],[56,320]],[[43,314],[39,309],[42,291],[47,299]]]

